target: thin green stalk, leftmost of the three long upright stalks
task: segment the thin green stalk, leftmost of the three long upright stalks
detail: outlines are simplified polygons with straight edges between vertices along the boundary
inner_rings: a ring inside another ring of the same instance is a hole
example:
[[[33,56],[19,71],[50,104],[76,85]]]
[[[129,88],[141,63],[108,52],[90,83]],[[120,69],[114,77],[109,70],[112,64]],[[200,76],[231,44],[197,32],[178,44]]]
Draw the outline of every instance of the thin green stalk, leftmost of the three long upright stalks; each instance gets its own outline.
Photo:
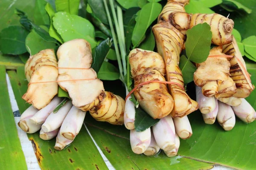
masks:
[[[120,80],[125,84],[124,75],[123,75],[123,68],[122,68],[122,61],[121,61],[121,57],[120,57],[120,53],[119,53],[119,48],[118,48],[118,45],[117,45],[116,34],[115,34],[115,31],[114,31],[114,28],[113,28],[113,23],[112,23],[112,20],[111,20],[109,9],[108,9],[108,4],[107,4],[106,0],[103,0],[103,3],[104,3],[104,6],[105,6],[105,10],[107,12],[108,23],[109,23],[109,26],[110,26],[110,29],[111,29],[111,34],[112,34],[113,42],[114,42],[114,45],[115,45],[116,58],[117,58],[117,62],[118,62],[119,72],[120,72]]]

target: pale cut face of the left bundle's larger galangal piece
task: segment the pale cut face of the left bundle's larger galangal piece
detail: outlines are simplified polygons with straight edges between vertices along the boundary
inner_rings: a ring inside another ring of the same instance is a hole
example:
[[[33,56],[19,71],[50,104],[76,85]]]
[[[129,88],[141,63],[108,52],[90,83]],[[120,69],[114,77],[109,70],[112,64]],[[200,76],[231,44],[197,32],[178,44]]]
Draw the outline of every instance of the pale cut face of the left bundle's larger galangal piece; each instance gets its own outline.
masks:
[[[93,61],[90,44],[84,39],[65,42],[58,48],[57,57],[58,81],[67,81],[58,82],[58,85],[68,92],[74,106],[84,110],[84,106],[92,103],[104,91],[102,81],[90,68]]]

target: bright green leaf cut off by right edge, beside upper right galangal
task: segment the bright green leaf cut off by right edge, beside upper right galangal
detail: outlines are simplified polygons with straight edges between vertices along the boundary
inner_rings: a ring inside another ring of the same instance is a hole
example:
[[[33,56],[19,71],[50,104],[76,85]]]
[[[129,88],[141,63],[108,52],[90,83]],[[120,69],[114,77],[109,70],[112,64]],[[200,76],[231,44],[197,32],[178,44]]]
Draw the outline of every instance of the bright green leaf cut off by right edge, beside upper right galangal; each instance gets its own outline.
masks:
[[[256,36],[247,37],[242,43],[244,44],[245,52],[256,59]]]

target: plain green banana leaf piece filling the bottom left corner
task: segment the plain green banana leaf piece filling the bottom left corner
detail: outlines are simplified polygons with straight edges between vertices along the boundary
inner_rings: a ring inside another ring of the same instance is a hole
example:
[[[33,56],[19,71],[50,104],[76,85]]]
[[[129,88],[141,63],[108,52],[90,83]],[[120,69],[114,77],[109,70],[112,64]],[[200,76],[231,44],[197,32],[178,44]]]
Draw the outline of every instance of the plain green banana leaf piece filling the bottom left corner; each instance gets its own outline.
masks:
[[[0,166],[3,170],[26,170],[26,160],[12,113],[6,68],[0,65]]]

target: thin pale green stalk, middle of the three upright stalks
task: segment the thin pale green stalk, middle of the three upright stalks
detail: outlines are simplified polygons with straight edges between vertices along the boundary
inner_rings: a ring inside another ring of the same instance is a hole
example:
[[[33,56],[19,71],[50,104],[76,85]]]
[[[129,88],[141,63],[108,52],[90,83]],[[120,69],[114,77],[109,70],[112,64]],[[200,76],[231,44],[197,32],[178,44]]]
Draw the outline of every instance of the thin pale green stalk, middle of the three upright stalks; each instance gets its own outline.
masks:
[[[113,0],[110,0],[109,2],[110,2],[111,11],[112,11],[112,15],[113,15],[115,26],[116,26],[116,33],[117,33],[117,38],[118,38],[121,57],[122,57],[122,66],[123,66],[123,68],[126,68],[126,60],[125,60],[126,51],[125,51],[124,44],[122,43],[122,38],[119,36],[119,35],[122,35],[122,32],[120,31],[119,24],[117,22],[116,10],[114,7]],[[120,24],[122,24],[122,23],[120,23]],[[123,71],[124,71],[124,75],[125,75],[127,73],[126,69],[124,69]]]

